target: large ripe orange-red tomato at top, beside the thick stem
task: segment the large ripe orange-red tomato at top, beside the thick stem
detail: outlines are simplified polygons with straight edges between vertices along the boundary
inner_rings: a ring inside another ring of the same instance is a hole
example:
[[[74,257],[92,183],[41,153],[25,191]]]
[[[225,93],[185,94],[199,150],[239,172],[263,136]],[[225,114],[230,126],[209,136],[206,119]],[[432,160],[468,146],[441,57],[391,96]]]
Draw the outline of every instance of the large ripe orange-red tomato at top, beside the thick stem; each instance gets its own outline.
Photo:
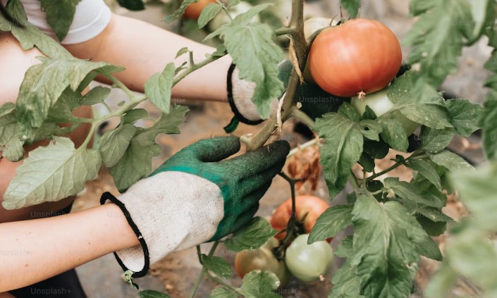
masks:
[[[376,20],[349,20],[314,39],[309,68],[317,85],[339,97],[383,89],[402,64],[400,43]]]

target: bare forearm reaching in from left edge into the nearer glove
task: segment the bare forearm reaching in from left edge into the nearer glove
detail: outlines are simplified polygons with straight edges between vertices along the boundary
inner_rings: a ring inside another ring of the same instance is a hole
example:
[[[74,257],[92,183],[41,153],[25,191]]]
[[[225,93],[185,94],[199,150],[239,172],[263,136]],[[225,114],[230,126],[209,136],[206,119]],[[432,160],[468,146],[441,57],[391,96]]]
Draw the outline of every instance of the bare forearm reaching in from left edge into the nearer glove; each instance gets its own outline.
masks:
[[[0,241],[0,293],[139,244],[115,204],[53,218],[1,223]]]

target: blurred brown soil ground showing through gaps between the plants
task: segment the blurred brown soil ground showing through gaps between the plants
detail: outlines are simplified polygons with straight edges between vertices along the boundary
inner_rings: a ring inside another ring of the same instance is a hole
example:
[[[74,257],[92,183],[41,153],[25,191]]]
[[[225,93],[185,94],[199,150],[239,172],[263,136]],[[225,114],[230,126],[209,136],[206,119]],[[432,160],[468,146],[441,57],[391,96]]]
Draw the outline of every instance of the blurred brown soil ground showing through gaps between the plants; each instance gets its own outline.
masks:
[[[325,7],[338,8],[338,0],[314,2],[313,6],[323,5]],[[412,25],[412,20],[407,18],[408,1],[395,0],[369,0],[362,1],[362,15],[365,18],[381,19],[395,32],[400,39],[405,35]],[[309,8],[310,9],[310,8]],[[326,9],[316,9],[317,15],[335,15],[336,13],[326,13]],[[333,9],[333,11],[336,11]],[[161,10],[152,10],[148,13],[133,13],[133,17],[144,20],[160,20]],[[157,21],[152,21],[159,25]],[[465,97],[474,102],[481,103],[484,98],[485,90],[481,88],[486,72],[481,70],[486,58],[489,56],[489,49],[485,46],[486,42],[481,42],[470,49],[466,49],[462,59],[462,66],[458,73],[448,78],[443,85],[443,89],[457,97]],[[404,49],[404,53],[408,53],[408,49]],[[113,94],[115,101],[120,100],[119,94]],[[198,139],[225,135],[223,126],[226,125],[231,118],[231,111],[225,103],[194,103],[190,101],[182,101],[181,104],[190,106],[192,111],[188,114],[187,123],[181,126],[181,135],[161,135],[157,138],[157,142],[161,144],[162,154],[154,159],[153,166],[156,168],[164,162],[169,156],[179,151],[181,148],[192,144]],[[145,108],[152,116],[158,116],[159,112],[151,105],[146,104]],[[114,123],[115,124],[115,123]],[[146,123],[144,123],[146,125]],[[112,124],[110,125],[110,127]],[[240,125],[237,130],[237,135],[244,135],[249,132],[257,132],[260,126],[248,127]],[[286,123],[285,133],[283,138],[293,144],[302,143],[304,140],[299,135],[290,135],[288,132],[293,130],[293,123]],[[451,147],[475,162],[481,162],[481,150],[478,145],[478,137],[471,138],[469,141],[455,139]],[[392,153],[394,154],[394,153]],[[379,165],[382,168],[388,167],[388,164]],[[405,180],[410,177],[410,173],[406,170],[398,170],[395,175],[402,176]],[[84,192],[79,195],[75,204],[75,209],[87,209],[92,206],[97,206],[99,195],[102,192],[110,191],[113,194],[118,194],[113,186],[111,176],[102,169],[101,175],[97,180],[87,183]],[[320,180],[315,192],[319,197],[328,200],[326,185]],[[271,216],[271,212],[285,199],[290,197],[290,189],[288,184],[281,178],[277,177],[273,185],[263,197],[261,207],[257,213],[258,216]],[[336,198],[332,204],[342,204],[343,195]],[[328,200],[329,201],[329,200]],[[450,200],[448,206],[444,210],[446,214],[452,216],[456,220],[465,214],[461,204],[455,199]],[[166,229],[167,227],[164,227]],[[340,243],[345,233],[338,235],[331,243],[333,248]],[[436,240],[443,248],[446,235],[438,237]],[[209,244],[202,245],[202,251],[207,251]],[[217,256],[223,256],[228,261],[233,262],[234,254],[228,252],[224,247],[219,247],[216,252]],[[340,258],[336,258],[333,269],[330,271],[331,276],[342,263]],[[422,289],[427,283],[429,276],[436,270],[438,263],[423,259],[422,268],[419,270],[416,279],[416,288]],[[200,272],[200,264],[197,261],[195,249],[188,249],[183,252],[166,256],[159,263],[155,264],[151,273],[142,279],[135,280],[140,285],[142,290],[152,289],[159,291],[167,291],[173,298],[188,297],[192,285],[195,283],[198,273]],[[104,256],[78,268],[78,274],[82,280],[83,287],[91,298],[128,298],[137,297],[135,291],[128,284],[124,283],[121,278],[121,268],[118,266],[112,255]],[[281,290],[283,297],[327,297],[331,283],[330,278],[326,278],[326,282],[315,283],[299,283],[297,280],[292,280],[287,287]],[[240,285],[240,278],[233,275],[231,279],[233,285]],[[215,287],[208,280],[204,280],[196,297],[209,297],[209,293]],[[458,290],[465,292],[466,286],[460,285]],[[413,297],[422,297],[422,290],[417,290],[418,294]]]

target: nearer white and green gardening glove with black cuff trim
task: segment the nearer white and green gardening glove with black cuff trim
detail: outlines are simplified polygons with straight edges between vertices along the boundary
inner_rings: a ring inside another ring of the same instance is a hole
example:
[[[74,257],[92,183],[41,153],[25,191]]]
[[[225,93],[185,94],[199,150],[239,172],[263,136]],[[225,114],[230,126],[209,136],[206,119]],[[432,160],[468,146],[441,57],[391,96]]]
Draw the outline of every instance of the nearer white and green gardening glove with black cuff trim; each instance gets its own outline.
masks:
[[[101,203],[119,206],[140,240],[114,253],[125,271],[141,277],[166,254],[219,240],[250,221],[290,147],[274,142],[223,161],[239,150],[237,137],[203,139],[121,197],[102,195]]]

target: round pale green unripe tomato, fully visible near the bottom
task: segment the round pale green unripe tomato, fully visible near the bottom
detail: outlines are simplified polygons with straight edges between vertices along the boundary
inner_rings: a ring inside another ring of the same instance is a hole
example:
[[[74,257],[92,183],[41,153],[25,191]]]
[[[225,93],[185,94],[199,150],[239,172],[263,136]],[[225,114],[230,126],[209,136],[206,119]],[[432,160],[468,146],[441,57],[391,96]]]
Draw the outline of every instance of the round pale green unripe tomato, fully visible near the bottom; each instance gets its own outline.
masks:
[[[286,249],[288,271],[303,282],[319,280],[333,265],[333,249],[326,241],[307,244],[309,234],[300,235]]]

